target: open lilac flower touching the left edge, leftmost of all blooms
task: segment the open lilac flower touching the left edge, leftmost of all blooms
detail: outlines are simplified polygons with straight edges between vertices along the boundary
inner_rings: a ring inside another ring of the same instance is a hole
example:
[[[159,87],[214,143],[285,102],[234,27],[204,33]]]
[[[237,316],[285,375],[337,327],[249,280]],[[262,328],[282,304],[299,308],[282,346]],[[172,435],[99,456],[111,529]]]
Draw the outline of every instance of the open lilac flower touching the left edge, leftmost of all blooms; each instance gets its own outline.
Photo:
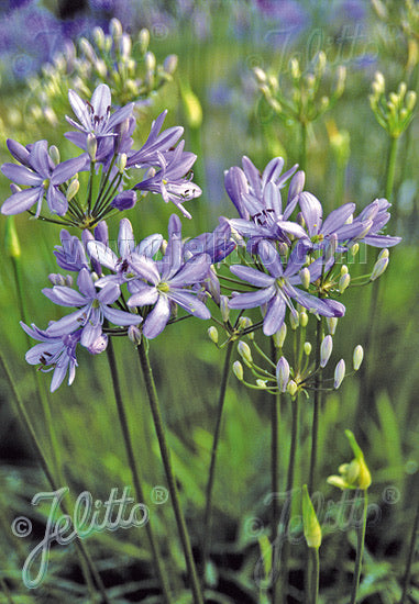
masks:
[[[63,216],[67,212],[68,202],[60,186],[85,168],[86,158],[81,155],[55,166],[48,155],[46,141],[37,141],[33,145],[23,147],[15,141],[9,139],[8,147],[22,165],[3,164],[1,171],[14,183],[26,186],[29,189],[18,191],[7,199],[1,206],[2,214],[20,214],[36,204],[35,216],[37,217],[46,195],[51,212]]]

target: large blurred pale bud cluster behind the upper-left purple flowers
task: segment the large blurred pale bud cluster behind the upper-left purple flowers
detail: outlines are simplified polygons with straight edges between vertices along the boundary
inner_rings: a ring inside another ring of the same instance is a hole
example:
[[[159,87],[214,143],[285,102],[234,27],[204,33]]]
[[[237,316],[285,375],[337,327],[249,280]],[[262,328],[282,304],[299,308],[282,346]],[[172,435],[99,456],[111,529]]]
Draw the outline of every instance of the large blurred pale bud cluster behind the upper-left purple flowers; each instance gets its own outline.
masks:
[[[157,64],[148,44],[148,30],[141,30],[133,40],[118,19],[111,20],[109,34],[95,27],[92,42],[81,37],[78,48],[68,42],[65,51],[42,68],[41,76],[29,81],[32,118],[57,125],[57,116],[67,110],[67,89],[90,97],[100,83],[109,86],[118,107],[145,101],[173,79],[177,67],[176,55]]]

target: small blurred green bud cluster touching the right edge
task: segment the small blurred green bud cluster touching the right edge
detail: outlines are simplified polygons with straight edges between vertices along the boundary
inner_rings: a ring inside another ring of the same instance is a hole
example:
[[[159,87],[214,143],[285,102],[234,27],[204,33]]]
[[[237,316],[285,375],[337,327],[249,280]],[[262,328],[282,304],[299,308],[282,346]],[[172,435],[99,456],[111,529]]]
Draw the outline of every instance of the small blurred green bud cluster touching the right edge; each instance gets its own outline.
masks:
[[[401,82],[397,92],[390,92],[386,97],[386,82],[379,71],[375,74],[372,89],[370,103],[378,124],[392,138],[398,138],[414,118],[416,92],[407,91],[406,83]]]

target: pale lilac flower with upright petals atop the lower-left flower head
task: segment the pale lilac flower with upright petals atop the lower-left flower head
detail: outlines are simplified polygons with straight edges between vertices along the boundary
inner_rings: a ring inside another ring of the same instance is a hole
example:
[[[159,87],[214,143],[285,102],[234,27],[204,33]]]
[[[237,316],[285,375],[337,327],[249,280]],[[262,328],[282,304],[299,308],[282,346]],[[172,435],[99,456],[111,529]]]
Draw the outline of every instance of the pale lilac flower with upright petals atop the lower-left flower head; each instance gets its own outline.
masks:
[[[128,219],[122,219],[118,234],[118,255],[102,242],[91,241],[87,243],[87,251],[90,259],[96,260],[102,267],[115,273],[102,277],[97,281],[97,284],[102,287],[110,281],[124,283],[128,279],[126,273],[131,270],[130,261],[132,254],[153,258],[161,248],[162,243],[163,235],[155,233],[145,237],[139,245],[135,245],[131,222]]]

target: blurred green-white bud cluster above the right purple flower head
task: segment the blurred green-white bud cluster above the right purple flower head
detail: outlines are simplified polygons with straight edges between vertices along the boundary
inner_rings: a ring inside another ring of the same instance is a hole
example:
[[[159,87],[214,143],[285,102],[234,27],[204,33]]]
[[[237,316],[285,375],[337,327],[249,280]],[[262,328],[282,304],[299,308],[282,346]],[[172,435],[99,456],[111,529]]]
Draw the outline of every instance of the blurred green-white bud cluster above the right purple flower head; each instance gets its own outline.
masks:
[[[267,75],[260,67],[254,68],[254,75],[261,92],[277,115],[286,121],[308,124],[330,109],[344,90],[346,71],[339,66],[330,94],[322,94],[326,70],[327,57],[321,51],[308,72],[302,72],[297,58],[290,60],[290,86],[282,86],[276,76]]]

